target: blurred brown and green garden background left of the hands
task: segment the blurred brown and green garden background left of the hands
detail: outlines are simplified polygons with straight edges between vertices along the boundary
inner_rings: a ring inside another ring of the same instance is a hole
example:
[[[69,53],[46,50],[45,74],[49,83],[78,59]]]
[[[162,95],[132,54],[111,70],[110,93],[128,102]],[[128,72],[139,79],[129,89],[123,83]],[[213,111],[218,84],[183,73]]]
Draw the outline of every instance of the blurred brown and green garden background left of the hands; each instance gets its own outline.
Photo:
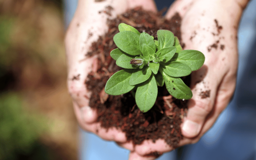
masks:
[[[0,0],[0,160],[76,160],[62,0]]]

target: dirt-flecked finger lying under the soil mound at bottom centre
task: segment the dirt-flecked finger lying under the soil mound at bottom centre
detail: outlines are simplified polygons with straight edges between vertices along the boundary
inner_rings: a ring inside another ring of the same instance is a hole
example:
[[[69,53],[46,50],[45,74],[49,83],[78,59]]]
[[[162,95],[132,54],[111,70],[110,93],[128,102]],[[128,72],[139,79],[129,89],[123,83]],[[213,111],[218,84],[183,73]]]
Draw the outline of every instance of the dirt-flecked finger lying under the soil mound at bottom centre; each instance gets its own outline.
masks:
[[[144,140],[142,144],[135,146],[135,151],[140,156],[146,156],[152,153],[164,153],[173,150],[163,139],[156,140],[154,143],[152,140]]]

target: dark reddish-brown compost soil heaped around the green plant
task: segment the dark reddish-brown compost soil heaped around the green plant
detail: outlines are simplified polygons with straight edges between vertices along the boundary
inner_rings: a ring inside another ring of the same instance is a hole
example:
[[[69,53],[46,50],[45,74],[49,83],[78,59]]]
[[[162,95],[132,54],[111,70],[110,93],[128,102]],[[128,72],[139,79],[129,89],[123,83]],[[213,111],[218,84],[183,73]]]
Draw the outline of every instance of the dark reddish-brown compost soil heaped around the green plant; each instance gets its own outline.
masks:
[[[104,14],[104,13],[101,13]],[[161,13],[143,11],[140,7],[129,10],[108,20],[108,32],[94,42],[91,51],[86,56],[98,55],[99,69],[91,72],[85,82],[87,89],[92,92],[89,106],[98,111],[97,121],[104,128],[116,127],[126,133],[127,140],[133,144],[141,144],[143,140],[164,139],[170,146],[177,146],[183,138],[180,124],[187,111],[186,101],[173,98],[164,87],[158,87],[157,100],[153,108],[143,113],[136,106],[135,99],[130,92],[112,96],[104,92],[108,78],[122,68],[116,66],[116,61],[110,57],[110,52],[117,48],[113,36],[118,33],[120,23],[129,24],[140,32],[147,32],[157,39],[158,29],[173,32],[181,41],[179,14],[166,20]],[[183,44],[184,47],[184,44]],[[190,76],[183,77],[189,86]]]

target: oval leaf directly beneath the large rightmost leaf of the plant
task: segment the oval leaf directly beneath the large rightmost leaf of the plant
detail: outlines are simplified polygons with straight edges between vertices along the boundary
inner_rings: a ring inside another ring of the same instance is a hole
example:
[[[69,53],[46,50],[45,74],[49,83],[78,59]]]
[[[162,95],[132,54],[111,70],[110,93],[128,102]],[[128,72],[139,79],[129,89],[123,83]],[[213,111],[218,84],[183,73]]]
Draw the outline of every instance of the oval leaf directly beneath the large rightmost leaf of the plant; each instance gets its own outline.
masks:
[[[191,73],[191,69],[184,63],[180,62],[168,62],[162,64],[164,73],[173,77],[188,76]]]

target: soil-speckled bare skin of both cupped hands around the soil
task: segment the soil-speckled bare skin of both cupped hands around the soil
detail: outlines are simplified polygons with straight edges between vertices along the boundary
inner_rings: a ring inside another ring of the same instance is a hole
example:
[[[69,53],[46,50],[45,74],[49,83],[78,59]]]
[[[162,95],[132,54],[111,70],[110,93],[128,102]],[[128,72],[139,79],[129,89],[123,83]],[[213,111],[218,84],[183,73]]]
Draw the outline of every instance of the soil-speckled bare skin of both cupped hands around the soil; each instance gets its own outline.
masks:
[[[204,53],[204,66],[192,72],[191,89],[193,97],[188,101],[188,114],[181,124],[184,139],[179,146],[196,143],[210,129],[220,113],[230,101],[236,84],[237,71],[237,28],[248,0],[176,0],[166,14],[166,18],[179,12],[182,17],[181,37],[184,49],[198,50]],[[145,140],[141,145],[133,146],[127,142],[125,133],[112,128],[106,129],[96,123],[96,111],[89,104],[90,92],[84,81],[89,72],[97,70],[97,57],[86,58],[90,44],[108,29],[106,14],[99,14],[104,7],[111,5],[112,16],[125,12],[129,8],[141,5],[144,9],[156,12],[152,0],[106,0],[94,2],[80,0],[76,14],[68,28],[65,38],[68,63],[68,90],[73,98],[75,114],[80,126],[105,140],[114,140],[117,144],[131,150],[130,160],[153,160],[151,153],[173,150],[164,140]],[[222,26],[218,32],[216,21]],[[89,34],[93,35],[88,38]],[[216,41],[217,48],[210,46]],[[220,48],[224,45],[224,49]],[[210,51],[208,49],[211,49]],[[76,80],[74,76],[80,75]],[[202,98],[202,91],[210,90],[210,97]],[[85,95],[85,96],[84,96]]]

